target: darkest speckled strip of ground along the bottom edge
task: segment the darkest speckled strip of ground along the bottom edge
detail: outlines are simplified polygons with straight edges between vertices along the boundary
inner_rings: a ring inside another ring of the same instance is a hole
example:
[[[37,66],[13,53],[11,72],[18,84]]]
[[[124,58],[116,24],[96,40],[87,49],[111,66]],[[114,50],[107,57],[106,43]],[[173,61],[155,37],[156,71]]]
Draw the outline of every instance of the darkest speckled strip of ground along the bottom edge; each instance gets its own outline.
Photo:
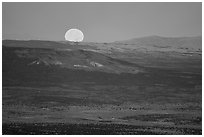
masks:
[[[157,130],[155,130],[157,129]],[[161,131],[159,131],[161,130]],[[6,135],[165,135],[166,131],[176,130],[178,133],[201,135],[201,129],[178,127],[133,126],[122,124],[47,124],[47,123],[15,123],[4,124]]]

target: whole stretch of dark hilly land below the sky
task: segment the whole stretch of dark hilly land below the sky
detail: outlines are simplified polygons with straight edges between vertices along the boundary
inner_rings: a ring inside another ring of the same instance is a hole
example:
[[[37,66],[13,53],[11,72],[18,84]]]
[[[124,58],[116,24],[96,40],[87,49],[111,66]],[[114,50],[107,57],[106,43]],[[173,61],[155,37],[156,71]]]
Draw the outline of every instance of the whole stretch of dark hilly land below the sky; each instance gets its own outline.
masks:
[[[186,39],[3,41],[2,134],[202,134],[201,42]]]

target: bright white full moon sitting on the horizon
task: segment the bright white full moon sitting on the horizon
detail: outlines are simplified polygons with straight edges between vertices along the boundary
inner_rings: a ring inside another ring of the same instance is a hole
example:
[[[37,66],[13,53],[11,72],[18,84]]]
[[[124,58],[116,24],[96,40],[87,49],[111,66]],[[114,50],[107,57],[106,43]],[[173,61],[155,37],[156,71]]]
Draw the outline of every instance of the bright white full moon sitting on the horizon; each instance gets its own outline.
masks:
[[[69,29],[65,33],[65,39],[72,42],[81,42],[84,39],[84,35],[79,29]]]

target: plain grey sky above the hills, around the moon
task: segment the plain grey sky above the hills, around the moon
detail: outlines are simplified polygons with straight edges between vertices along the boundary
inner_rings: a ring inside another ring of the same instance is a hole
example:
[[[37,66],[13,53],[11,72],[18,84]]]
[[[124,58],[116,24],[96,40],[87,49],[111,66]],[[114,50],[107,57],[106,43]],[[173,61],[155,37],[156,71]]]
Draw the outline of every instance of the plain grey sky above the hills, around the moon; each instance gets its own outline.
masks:
[[[201,36],[202,3],[3,2],[3,39],[61,41],[71,28],[80,29],[85,42]]]

